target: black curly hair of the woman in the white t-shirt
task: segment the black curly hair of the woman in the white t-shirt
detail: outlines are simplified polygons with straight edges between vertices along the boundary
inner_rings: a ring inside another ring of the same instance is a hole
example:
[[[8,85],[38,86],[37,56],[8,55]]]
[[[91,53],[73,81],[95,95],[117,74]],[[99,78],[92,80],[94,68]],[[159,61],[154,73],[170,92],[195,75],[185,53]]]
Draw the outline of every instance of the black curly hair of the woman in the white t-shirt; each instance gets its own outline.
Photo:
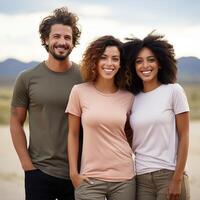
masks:
[[[143,40],[138,38],[126,38],[123,45],[126,62],[127,89],[133,94],[143,90],[143,82],[136,73],[135,61],[140,51],[146,47],[150,49],[158,60],[161,68],[158,71],[158,81],[162,84],[176,81],[177,66],[173,45],[164,39],[164,35],[148,34]]]

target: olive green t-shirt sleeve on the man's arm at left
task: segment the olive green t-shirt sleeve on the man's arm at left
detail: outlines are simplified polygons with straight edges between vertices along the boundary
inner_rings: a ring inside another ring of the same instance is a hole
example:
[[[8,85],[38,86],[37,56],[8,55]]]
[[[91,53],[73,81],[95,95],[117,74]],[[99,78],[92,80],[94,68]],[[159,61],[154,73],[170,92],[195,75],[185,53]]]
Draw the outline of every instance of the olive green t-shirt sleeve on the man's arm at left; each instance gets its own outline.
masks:
[[[11,106],[28,108],[28,104],[29,104],[28,89],[26,87],[24,75],[20,74],[15,82]]]

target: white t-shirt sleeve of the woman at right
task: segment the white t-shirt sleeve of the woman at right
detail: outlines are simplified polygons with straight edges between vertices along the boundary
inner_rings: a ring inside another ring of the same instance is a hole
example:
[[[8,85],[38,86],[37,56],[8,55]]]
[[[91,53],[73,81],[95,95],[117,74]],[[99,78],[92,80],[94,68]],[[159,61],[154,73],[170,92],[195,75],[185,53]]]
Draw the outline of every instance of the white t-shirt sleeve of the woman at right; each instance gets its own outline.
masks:
[[[190,110],[185,91],[179,84],[174,84],[173,108],[175,114],[188,112]]]

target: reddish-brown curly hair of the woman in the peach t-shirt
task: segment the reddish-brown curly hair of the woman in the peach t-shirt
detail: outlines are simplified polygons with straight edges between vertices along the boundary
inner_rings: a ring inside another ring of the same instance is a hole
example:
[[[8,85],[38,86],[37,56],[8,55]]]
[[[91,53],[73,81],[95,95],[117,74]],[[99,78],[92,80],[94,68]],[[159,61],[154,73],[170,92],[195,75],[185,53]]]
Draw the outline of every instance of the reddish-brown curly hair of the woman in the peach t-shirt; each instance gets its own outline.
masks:
[[[120,52],[120,69],[115,76],[115,84],[117,87],[123,88],[125,87],[125,76],[123,67],[124,62],[122,42],[111,35],[102,36],[91,42],[91,44],[87,47],[81,61],[81,75],[84,81],[96,81],[98,75],[97,64],[101,58],[101,55],[108,46],[115,46]]]

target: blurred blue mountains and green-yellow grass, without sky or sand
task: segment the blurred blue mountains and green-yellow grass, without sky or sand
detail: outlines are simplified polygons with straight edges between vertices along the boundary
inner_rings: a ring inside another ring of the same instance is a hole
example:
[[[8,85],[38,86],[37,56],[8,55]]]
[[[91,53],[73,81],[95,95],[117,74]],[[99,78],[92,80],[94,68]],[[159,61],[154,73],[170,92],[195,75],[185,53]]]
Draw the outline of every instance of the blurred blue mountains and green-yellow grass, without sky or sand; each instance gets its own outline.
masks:
[[[9,122],[9,105],[17,75],[38,64],[13,58],[0,62],[0,124]],[[200,120],[200,59],[181,57],[178,59],[178,82],[184,87],[190,105],[191,120]]]

